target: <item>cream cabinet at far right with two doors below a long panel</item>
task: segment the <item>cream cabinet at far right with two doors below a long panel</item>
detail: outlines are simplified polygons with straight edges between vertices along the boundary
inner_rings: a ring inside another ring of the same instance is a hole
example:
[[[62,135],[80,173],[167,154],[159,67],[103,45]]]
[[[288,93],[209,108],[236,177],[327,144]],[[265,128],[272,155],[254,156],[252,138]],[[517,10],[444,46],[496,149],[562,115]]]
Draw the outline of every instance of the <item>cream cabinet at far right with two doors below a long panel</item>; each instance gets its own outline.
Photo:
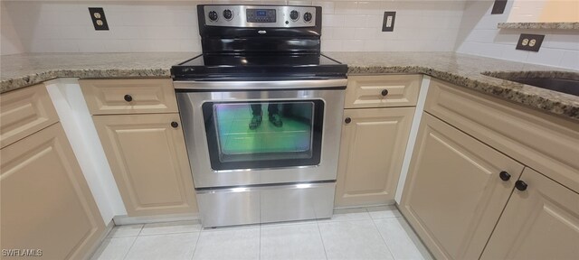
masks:
[[[438,79],[424,107],[400,209],[432,255],[578,255],[579,123]]]

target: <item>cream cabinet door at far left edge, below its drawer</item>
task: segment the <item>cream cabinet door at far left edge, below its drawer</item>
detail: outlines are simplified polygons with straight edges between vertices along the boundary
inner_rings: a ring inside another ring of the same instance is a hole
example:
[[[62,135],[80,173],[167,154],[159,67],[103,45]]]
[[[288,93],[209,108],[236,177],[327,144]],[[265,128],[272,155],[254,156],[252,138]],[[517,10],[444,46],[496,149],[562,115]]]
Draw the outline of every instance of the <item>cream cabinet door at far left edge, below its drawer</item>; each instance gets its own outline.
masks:
[[[61,124],[6,146],[0,157],[6,259],[87,258],[105,226]]]

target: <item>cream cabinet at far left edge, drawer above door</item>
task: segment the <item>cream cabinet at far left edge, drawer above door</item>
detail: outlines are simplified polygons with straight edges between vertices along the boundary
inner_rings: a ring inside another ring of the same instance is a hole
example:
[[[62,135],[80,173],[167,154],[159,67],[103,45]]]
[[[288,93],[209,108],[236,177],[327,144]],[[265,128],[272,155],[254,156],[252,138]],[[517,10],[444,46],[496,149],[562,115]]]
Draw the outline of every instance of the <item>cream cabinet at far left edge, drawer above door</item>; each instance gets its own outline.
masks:
[[[0,150],[3,253],[30,249],[43,259],[87,258],[105,226],[46,88],[18,89],[0,99],[3,141],[12,141]]]

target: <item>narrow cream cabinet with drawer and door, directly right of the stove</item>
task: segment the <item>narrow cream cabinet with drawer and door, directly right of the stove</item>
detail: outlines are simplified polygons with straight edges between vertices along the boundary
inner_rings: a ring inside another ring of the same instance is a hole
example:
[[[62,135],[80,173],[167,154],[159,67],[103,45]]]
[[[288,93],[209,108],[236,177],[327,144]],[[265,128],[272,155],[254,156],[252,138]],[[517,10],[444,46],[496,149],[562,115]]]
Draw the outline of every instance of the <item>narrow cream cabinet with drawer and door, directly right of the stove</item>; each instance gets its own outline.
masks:
[[[394,202],[420,81],[418,75],[348,78],[336,207]]]

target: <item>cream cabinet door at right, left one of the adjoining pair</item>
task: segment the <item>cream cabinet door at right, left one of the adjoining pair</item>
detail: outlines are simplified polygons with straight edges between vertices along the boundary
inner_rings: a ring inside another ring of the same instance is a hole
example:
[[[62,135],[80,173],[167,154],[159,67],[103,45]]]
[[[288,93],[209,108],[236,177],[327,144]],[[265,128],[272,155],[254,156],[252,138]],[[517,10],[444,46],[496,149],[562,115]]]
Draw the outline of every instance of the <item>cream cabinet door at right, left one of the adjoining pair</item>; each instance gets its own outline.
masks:
[[[400,209],[437,259],[478,259],[522,171],[424,113]]]

